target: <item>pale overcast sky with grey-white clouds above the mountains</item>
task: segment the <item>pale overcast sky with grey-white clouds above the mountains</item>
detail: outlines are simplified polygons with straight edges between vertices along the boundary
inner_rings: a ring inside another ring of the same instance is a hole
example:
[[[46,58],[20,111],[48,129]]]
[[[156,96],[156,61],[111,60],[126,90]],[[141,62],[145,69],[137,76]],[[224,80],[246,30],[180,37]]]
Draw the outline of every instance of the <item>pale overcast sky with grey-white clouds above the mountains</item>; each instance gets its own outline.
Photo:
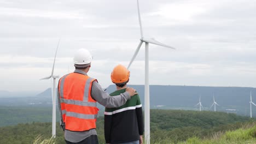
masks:
[[[149,45],[150,85],[256,87],[255,0],[140,0]],[[136,0],[1,0],[0,90],[44,91],[57,42],[54,74],[74,70],[73,56],[88,49],[89,76],[111,84],[117,64],[127,66],[139,43]],[[144,84],[144,45],[131,65],[130,84]]]

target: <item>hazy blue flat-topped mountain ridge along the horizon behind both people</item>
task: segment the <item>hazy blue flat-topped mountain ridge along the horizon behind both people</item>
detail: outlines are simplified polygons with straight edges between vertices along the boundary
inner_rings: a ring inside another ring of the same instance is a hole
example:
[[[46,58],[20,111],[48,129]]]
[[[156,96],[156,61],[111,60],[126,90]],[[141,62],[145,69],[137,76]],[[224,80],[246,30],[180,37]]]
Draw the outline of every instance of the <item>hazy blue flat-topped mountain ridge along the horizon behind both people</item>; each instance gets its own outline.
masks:
[[[139,93],[142,105],[144,105],[144,85],[129,85]],[[184,109],[197,110],[201,95],[202,110],[213,110],[213,94],[219,104],[217,111],[234,112],[239,115],[249,115],[250,91],[253,101],[256,101],[256,88],[251,87],[206,87],[206,86],[161,86],[150,85],[151,109]],[[115,85],[107,87],[107,92],[115,91]],[[1,94],[0,94],[1,95]],[[1,98],[0,105],[28,105],[40,104],[51,106],[51,88],[39,93],[36,97]],[[100,104],[97,105],[104,109]],[[256,116],[256,107],[253,107],[253,115]]]

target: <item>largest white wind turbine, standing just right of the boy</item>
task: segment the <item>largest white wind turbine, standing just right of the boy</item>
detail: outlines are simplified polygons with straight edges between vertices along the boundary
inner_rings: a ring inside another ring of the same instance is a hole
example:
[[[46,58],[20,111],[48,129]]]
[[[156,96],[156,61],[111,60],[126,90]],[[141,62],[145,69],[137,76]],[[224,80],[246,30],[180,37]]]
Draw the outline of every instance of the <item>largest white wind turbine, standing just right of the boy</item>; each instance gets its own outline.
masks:
[[[150,105],[149,105],[149,43],[150,44],[155,44],[155,45],[159,45],[159,46],[164,46],[164,47],[168,47],[171,49],[174,49],[171,46],[168,46],[166,44],[162,44],[159,41],[156,41],[153,38],[144,38],[143,35],[143,31],[142,31],[142,23],[141,23],[141,14],[139,13],[139,2],[137,0],[137,9],[138,9],[138,20],[139,20],[139,27],[140,27],[140,32],[141,32],[141,39],[139,41],[138,47],[127,67],[127,69],[130,68],[132,62],[134,61],[134,59],[136,58],[139,49],[141,48],[142,43],[145,43],[145,97],[144,97],[144,112],[145,112],[145,116],[144,116],[144,125],[145,125],[145,141],[146,144],[150,143]]]

